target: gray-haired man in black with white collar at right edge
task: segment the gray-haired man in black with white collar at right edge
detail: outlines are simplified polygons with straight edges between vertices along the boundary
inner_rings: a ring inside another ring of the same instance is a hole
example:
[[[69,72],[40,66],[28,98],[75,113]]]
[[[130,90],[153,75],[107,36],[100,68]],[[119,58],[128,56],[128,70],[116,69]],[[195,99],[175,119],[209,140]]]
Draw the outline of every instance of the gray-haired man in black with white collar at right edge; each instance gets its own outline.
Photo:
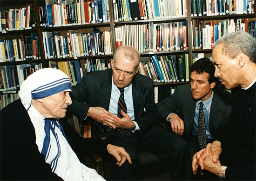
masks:
[[[228,33],[214,44],[212,58],[215,76],[232,89],[232,112],[215,141],[193,157],[193,172],[200,167],[219,179],[255,181],[256,38],[244,31]]]

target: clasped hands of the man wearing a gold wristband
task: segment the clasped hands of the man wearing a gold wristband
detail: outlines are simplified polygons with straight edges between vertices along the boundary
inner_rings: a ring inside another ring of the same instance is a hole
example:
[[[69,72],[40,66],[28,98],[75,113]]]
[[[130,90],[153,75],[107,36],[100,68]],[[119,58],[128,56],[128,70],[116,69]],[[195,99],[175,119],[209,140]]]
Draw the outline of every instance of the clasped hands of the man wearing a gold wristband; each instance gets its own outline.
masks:
[[[214,141],[212,144],[207,144],[205,149],[202,149],[195,153],[192,160],[193,174],[196,174],[198,167],[201,168],[201,175],[203,170],[208,170],[215,175],[219,174],[219,170],[222,165],[219,161],[219,156],[222,152],[221,143]]]

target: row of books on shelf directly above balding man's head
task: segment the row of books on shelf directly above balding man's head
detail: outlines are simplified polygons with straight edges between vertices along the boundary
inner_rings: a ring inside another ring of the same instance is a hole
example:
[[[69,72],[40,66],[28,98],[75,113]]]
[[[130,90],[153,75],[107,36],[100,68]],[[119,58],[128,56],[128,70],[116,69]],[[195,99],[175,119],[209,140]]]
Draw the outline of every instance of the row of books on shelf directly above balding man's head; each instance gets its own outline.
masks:
[[[186,21],[115,27],[115,44],[131,45],[140,53],[187,50]]]

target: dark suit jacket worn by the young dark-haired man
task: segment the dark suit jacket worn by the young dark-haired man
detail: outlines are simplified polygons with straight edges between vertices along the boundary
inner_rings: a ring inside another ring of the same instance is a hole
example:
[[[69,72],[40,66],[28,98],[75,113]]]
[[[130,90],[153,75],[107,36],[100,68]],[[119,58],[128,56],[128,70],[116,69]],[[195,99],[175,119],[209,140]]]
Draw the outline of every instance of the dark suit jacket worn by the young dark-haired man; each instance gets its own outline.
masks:
[[[178,110],[179,117],[184,122],[182,138],[188,141],[191,158],[200,150],[198,138],[192,135],[196,100],[190,91],[190,85],[178,86],[172,96],[160,101],[157,105],[160,118],[166,120],[167,116]],[[218,88],[214,88],[213,99],[210,108],[209,128],[213,138],[217,132],[223,129],[231,112],[231,94]]]

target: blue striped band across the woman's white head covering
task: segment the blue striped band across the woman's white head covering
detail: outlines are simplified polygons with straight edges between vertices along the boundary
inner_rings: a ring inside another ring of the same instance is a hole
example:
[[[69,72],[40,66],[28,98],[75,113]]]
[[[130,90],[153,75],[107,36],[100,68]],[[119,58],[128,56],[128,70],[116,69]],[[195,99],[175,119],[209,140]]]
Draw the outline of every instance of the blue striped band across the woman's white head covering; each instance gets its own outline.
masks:
[[[72,90],[71,81],[68,78],[62,78],[36,88],[34,91],[32,91],[32,97],[35,100],[42,99],[65,90]]]

